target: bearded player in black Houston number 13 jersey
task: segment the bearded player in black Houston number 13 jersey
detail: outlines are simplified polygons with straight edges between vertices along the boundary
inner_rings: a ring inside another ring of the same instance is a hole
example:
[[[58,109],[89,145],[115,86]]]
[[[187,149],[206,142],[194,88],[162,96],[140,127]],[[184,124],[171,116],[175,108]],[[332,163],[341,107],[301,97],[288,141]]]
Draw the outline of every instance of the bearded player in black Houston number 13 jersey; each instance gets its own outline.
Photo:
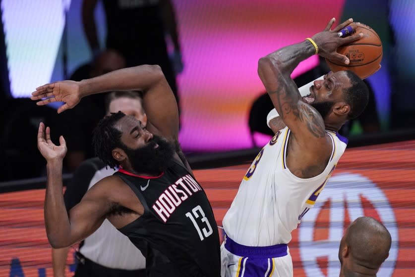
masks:
[[[220,276],[217,225],[204,190],[195,181],[178,145],[178,107],[161,69],[142,65],[82,80],[47,84],[32,93],[45,105],[62,101],[58,113],[82,97],[108,91],[139,90],[148,123],[119,112],[104,118],[94,132],[95,149],[104,163],[119,166],[94,185],[66,213],[62,195],[65,140],[51,141],[39,126],[38,148],[47,160],[45,226],[54,248],[72,245],[108,219],[146,256],[149,276]],[[157,259],[152,259],[157,255]],[[160,258],[162,257],[162,259]],[[164,264],[153,262],[163,260]]]

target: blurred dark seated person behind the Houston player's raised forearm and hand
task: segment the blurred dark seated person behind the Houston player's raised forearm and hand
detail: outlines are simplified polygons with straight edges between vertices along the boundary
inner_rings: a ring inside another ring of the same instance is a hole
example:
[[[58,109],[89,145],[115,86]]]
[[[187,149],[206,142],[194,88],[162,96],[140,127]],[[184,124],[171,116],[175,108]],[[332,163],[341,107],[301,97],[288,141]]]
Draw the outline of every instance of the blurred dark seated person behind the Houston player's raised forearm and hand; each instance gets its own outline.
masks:
[[[97,55],[92,63],[81,65],[70,80],[81,81],[125,67],[125,59],[115,50],[106,50]],[[83,99],[75,108],[59,115],[62,134],[68,151],[65,166],[74,172],[82,161],[95,156],[92,147],[92,131],[105,115],[105,95],[98,93]]]

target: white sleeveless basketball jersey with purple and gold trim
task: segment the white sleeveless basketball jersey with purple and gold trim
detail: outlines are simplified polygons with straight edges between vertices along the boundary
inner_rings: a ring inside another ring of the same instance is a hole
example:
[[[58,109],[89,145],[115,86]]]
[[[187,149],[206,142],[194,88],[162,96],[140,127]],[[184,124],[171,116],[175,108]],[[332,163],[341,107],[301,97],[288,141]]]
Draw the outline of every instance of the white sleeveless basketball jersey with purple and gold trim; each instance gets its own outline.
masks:
[[[287,167],[288,127],[280,130],[262,148],[243,177],[237,196],[223,219],[224,230],[230,238],[246,246],[290,242],[291,232],[314,206],[346,149],[346,138],[326,132],[333,142],[332,154],[325,170],[313,178],[298,178]]]

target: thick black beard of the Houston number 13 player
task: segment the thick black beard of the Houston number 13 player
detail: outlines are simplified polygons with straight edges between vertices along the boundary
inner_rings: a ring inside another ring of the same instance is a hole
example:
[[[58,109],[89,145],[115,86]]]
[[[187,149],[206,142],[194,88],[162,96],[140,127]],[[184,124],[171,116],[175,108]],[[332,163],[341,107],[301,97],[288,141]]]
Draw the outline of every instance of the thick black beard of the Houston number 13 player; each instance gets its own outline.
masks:
[[[135,172],[150,175],[159,175],[165,171],[172,164],[175,153],[172,143],[156,135],[143,147],[133,149],[123,145],[121,148]]]

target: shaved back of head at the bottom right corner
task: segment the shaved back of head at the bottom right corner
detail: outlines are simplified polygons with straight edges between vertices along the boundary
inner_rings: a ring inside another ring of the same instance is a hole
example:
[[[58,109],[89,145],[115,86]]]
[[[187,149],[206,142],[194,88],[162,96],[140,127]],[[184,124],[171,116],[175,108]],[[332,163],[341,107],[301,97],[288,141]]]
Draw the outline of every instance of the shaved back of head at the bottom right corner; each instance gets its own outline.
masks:
[[[391,234],[371,217],[357,218],[340,241],[340,277],[373,277],[388,258]]]

